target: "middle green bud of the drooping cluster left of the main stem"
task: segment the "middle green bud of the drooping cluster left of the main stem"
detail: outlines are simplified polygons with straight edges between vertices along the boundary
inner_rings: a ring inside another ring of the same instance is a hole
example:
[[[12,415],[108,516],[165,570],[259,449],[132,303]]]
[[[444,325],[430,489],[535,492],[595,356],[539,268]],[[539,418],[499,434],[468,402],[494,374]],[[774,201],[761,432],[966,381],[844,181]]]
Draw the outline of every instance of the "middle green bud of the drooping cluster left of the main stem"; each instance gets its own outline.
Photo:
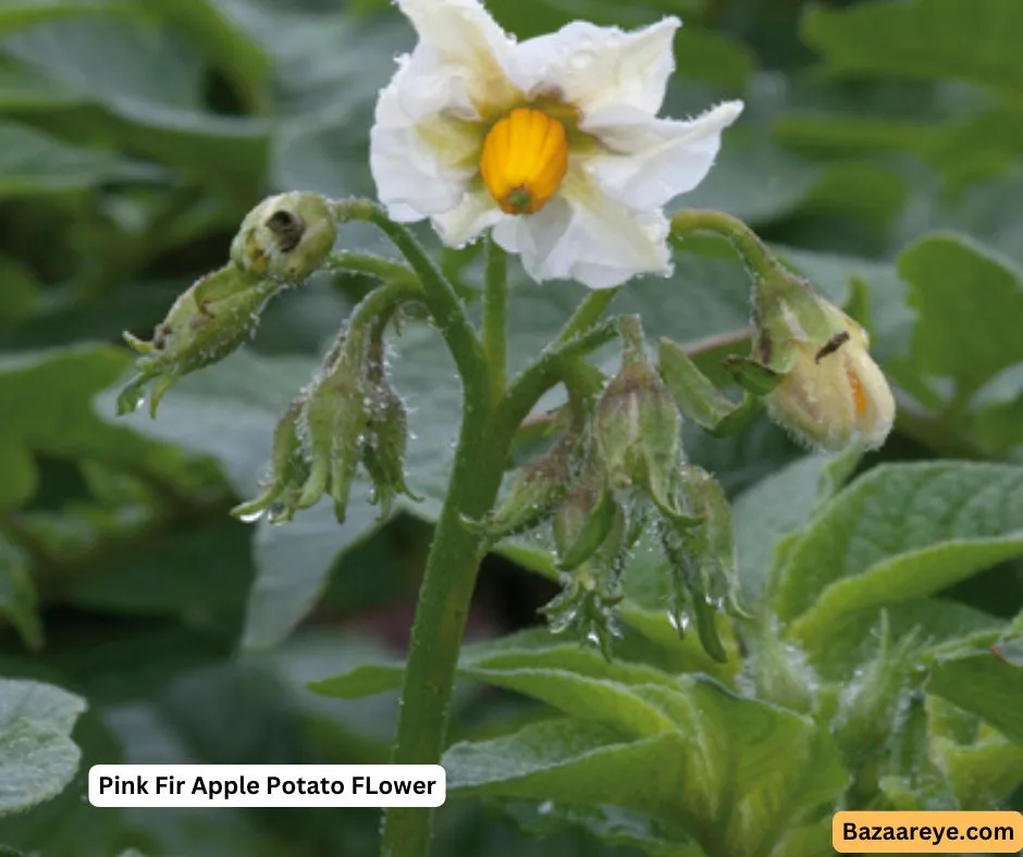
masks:
[[[346,345],[335,346],[308,393],[303,417],[309,477],[298,498],[298,508],[307,509],[329,493],[338,522],[345,519],[370,423],[361,356]]]

